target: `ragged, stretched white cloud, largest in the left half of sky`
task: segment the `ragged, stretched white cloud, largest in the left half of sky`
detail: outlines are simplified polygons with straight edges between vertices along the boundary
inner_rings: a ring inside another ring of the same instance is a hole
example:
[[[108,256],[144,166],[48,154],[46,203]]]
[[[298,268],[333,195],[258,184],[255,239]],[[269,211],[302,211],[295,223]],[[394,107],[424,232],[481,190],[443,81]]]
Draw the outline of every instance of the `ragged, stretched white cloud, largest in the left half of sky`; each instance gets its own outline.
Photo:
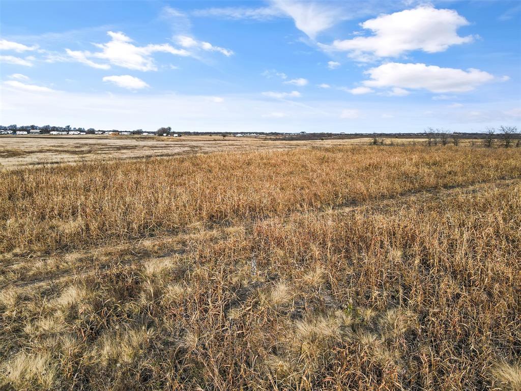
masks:
[[[133,40],[122,32],[108,31],[110,41],[107,43],[95,43],[94,46],[101,49],[101,52],[72,51],[66,49],[71,59],[83,63],[93,68],[109,69],[110,65],[122,68],[150,71],[157,70],[152,54],[156,52],[170,53],[178,56],[189,56],[190,53],[184,49],[178,49],[168,43],[148,44],[137,46]],[[107,63],[100,64],[93,59],[106,60]]]

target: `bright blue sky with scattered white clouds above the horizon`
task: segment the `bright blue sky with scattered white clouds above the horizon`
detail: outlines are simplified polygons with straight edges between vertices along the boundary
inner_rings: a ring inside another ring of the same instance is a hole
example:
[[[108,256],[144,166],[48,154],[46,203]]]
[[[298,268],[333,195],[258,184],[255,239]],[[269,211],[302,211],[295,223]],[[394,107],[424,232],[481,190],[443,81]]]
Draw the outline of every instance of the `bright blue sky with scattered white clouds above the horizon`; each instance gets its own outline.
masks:
[[[0,2],[0,124],[521,128],[519,1]]]

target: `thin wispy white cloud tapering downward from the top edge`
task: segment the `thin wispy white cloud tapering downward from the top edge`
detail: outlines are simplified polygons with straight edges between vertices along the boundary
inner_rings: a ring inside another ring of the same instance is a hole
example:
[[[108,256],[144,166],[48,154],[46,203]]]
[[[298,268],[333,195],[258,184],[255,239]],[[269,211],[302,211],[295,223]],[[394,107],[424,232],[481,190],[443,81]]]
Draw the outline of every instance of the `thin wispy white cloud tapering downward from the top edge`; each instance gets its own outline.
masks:
[[[272,4],[293,18],[295,27],[311,39],[315,39],[318,33],[344,19],[343,12],[338,7],[330,7],[325,4],[295,0],[272,0]]]

